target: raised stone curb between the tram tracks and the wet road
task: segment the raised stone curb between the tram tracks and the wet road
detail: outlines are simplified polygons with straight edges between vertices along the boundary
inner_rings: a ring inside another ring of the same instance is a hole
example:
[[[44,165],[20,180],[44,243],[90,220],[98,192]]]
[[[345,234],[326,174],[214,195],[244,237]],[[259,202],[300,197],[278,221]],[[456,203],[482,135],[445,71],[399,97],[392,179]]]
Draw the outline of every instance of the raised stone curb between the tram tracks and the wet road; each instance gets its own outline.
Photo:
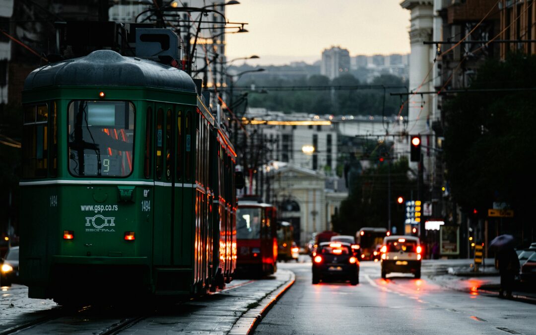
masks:
[[[276,302],[281,298],[285,292],[296,281],[296,275],[294,272],[291,272],[291,279],[289,279],[285,284],[279,286],[274,291],[270,292],[269,295],[264,297],[259,301],[259,307],[252,308],[245,312],[233,325],[232,329],[228,334],[232,335],[249,335],[251,334],[257,325],[262,321],[262,319],[268,314],[270,309],[276,304]]]

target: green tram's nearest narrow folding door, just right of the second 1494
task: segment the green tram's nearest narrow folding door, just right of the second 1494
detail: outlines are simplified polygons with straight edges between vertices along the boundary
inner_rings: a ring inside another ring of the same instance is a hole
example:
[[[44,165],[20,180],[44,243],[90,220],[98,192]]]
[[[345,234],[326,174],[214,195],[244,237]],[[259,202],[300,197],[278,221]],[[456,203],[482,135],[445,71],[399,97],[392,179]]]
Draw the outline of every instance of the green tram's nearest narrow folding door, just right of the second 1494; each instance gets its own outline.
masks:
[[[173,264],[174,235],[174,110],[157,103],[154,121],[154,242],[155,265]]]

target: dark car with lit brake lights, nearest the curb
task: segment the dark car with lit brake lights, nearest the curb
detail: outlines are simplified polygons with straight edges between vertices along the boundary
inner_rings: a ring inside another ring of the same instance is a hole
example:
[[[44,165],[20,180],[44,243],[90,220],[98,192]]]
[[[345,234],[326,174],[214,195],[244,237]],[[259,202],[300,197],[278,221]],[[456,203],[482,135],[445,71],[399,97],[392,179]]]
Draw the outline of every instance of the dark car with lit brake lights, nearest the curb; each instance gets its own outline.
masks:
[[[312,284],[330,279],[359,284],[359,260],[352,252],[352,244],[323,242],[318,245],[312,259]]]

